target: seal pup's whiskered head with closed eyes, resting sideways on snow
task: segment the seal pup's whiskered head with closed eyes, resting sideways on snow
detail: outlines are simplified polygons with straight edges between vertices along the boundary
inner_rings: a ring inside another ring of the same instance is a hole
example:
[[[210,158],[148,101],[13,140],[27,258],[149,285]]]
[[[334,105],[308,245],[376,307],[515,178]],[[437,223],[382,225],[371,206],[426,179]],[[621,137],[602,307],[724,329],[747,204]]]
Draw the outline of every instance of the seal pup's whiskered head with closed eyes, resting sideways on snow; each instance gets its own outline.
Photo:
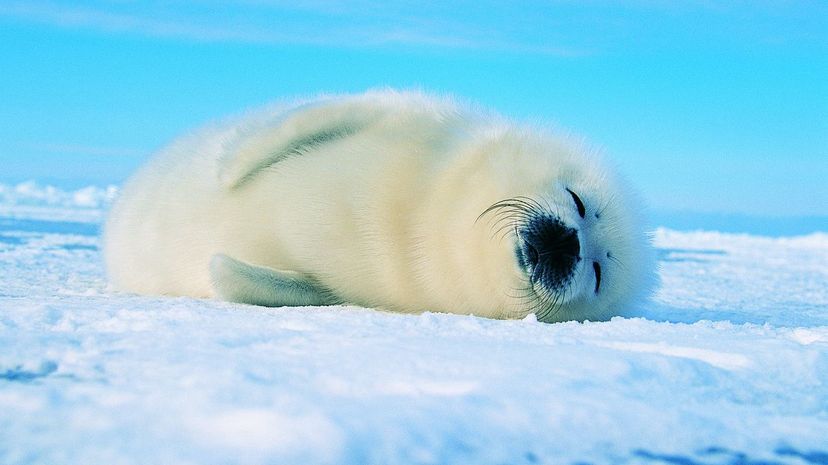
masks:
[[[653,281],[640,203],[594,155],[558,147],[553,159],[479,217],[510,249],[510,311],[547,322],[624,314]]]

